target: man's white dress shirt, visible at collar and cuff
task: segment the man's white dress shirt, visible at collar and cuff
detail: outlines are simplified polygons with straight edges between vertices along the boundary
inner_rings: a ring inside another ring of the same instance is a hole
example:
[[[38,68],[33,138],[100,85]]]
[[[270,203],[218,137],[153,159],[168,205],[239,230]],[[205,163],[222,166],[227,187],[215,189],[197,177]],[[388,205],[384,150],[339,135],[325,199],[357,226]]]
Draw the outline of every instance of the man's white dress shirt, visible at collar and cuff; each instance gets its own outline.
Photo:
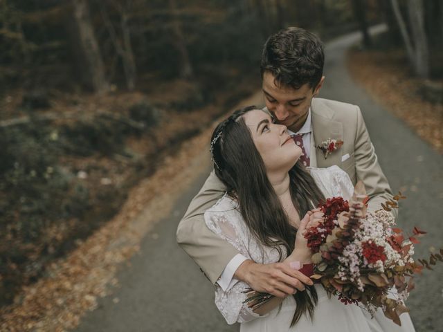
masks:
[[[293,133],[288,129],[289,135],[293,134],[303,134],[302,140],[303,140],[303,147],[305,148],[306,154],[309,158],[311,158],[311,131],[312,131],[312,122],[311,122],[311,108],[309,108],[307,118],[305,123],[302,125],[299,131],[296,133]],[[234,273],[237,270],[237,268],[246,261],[246,257],[244,257],[242,254],[237,254],[231,259],[226,265],[226,268],[224,268],[223,273],[221,273],[219,279],[217,280],[217,284],[223,289],[223,291],[228,291],[232,286],[235,285],[235,283],[238,281],[235,279]]]

